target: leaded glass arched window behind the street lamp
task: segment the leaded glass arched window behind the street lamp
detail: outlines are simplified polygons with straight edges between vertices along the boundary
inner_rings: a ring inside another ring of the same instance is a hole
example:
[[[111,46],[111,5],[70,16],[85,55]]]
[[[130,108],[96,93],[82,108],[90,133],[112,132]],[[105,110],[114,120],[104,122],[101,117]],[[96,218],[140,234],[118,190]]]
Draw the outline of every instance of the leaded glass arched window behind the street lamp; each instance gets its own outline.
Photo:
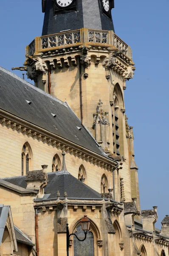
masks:
[[[82,230],[81,224],[76,227],[76,235],[79,239],[84,239],[85,234]],[[76,236],[73,238],[74,256],[94,256],[94,236],[92,232],[87,233],[85,241],[80,242]]]

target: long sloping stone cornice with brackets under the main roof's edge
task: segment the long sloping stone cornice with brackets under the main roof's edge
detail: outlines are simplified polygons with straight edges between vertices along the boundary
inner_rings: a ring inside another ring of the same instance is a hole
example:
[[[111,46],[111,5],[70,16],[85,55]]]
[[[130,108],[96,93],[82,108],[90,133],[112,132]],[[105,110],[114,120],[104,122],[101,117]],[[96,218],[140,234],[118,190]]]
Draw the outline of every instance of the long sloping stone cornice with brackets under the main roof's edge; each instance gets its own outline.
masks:
[[[115,166],[117,166],[118,162],[116,160],[110,160],[104,156],[96,154],[93,151],[88,150],[87,148],[83,148],[80,145],[70,142],[65,138],[53,134],[50,131],[40,128],[37,125],[34,125],[26,120],[14,116],[13,114],[8,113],[2,109],[0,109],[0,124],[5,124],[6,126],[11,127],[11,129],[16,128],[17,131],[21,131],[27,136],[37,138],[37,140],[42,138],[42,141],[44,143],[55,145],[56,148],[60,148],[61,150],[64,149],[70,154],[81,157],[86,161],[90,160],[90,163],[97,164],[104,169],[112,170]]]

